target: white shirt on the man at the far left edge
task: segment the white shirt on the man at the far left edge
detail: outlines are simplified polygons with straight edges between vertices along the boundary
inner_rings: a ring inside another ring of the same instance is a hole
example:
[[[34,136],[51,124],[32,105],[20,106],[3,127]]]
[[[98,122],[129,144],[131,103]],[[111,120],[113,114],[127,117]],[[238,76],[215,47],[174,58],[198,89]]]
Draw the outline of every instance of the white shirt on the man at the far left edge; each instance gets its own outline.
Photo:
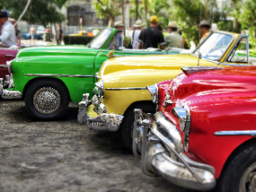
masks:
[[[2,35],[0,36],[0,40],[2,46],[16,46],[17,39],[15,29],[11,22],[7,21],[5,22],[5,25],[2,26]]]

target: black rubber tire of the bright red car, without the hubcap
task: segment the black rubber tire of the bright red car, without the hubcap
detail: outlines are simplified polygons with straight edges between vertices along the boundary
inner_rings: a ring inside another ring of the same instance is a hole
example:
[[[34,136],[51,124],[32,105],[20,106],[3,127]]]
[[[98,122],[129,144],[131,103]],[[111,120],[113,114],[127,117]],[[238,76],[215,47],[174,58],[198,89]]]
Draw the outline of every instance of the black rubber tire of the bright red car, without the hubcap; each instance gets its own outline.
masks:
[[[239,192],[240,179],[244,171],[255,162],[256,144],[248,146],[247,149],[237,153],[233,159],[230,159],[227,169],[223,170],[220,180],[218,180],[218,191]]]

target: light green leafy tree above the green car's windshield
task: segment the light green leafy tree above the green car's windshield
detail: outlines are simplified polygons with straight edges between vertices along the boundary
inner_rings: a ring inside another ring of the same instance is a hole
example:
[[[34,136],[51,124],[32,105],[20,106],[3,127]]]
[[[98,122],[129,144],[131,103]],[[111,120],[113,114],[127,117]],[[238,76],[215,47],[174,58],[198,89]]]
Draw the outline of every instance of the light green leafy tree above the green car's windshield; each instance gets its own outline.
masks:
[[[94,0],[92,2],[92,6],[100,19],[110,17],[109,26],[112,26],[115,16],[121,15],[119,5],[119,1],[112,0]]]

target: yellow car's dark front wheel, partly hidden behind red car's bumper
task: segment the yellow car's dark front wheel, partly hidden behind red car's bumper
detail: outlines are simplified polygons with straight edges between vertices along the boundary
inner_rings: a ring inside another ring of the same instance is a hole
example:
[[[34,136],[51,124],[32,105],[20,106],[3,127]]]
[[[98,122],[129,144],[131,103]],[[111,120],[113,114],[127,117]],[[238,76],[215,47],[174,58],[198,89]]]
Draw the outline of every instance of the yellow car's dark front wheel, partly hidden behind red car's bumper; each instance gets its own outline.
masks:
[[[134,106],[134,108],[140,108],[145,113],[155,113],[156,106],[152,104],[142,104]],[[121,125],[121,132],[123,137],[123,142],[125,143],[126,147],[133,150],[133,127],[134,127],[134,108],[130,108],[129,111],[126,112],[122,125]]]

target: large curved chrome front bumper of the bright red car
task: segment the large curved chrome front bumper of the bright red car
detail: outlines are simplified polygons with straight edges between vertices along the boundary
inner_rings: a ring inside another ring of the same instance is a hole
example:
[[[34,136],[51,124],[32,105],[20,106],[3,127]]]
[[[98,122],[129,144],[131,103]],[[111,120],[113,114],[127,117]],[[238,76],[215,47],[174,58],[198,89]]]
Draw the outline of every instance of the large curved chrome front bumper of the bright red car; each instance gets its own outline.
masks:
[[[138,119],[141,113],[141,110],[136,109],[135,119]],[[155,114],[155,119],[155,122],[149,119],[137,120],[143,129],[141,144],[143,172],[148,176],[161,175],[171,183],[193,190],[210,190],[215,187],[213,166],[195,162],[185,156],[183,149],[180,149],[182,141],[178,135],[175,135],[177,132],[173,129],[176,128],[175,125],[161,112]]]

